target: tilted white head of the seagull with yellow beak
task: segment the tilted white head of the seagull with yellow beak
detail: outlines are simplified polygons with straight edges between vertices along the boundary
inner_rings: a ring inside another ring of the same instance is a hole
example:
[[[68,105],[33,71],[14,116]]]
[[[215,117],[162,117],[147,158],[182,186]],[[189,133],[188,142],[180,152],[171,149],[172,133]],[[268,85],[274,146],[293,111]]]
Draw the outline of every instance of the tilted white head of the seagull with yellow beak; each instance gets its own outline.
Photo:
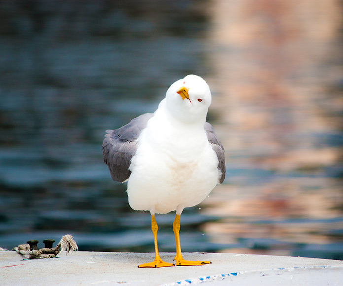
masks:
[[[166,93],[167,109],[173,117],[186,123],[203,124],[211,101],[208,84],[193,74],[174,82]]]

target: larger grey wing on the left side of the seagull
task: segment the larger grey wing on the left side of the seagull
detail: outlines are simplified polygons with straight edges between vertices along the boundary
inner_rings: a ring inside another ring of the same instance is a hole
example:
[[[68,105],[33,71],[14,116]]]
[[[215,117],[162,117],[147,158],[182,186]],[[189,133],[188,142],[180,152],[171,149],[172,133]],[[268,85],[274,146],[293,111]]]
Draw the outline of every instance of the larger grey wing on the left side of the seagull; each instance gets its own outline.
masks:
[[[152,116],[152,113],[146,113],[132,119],[123,127],[106,130],[102,145],[103,158],[113,180],[124,182],[129,179],[129,167],[137,150],[137,139]]]

